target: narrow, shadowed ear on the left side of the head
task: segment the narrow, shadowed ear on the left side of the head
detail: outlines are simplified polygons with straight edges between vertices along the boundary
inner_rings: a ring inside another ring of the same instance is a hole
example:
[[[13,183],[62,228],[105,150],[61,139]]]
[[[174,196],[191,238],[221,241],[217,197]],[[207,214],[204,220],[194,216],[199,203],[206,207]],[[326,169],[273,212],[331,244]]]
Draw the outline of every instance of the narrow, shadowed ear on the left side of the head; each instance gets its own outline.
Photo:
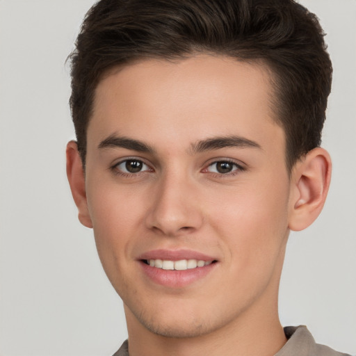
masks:
[[[83,164],[75,141],[67,144],[67,178],[70,182],[70,190],[78,208],[79,221],[86,227],[92,227],[88,204],[86,200],[86,179],[84,177]]]

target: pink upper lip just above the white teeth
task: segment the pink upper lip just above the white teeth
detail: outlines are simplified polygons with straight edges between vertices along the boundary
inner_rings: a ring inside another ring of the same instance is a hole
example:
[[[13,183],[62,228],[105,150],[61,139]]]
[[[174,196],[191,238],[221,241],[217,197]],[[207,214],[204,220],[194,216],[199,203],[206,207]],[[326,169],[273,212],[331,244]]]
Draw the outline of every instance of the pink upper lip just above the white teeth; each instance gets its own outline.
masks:
[[[151,250],[141,254],[138,259],[162,259],[166,261],[197,259],[200,261],[216,261],[216,258],[194,250]]]

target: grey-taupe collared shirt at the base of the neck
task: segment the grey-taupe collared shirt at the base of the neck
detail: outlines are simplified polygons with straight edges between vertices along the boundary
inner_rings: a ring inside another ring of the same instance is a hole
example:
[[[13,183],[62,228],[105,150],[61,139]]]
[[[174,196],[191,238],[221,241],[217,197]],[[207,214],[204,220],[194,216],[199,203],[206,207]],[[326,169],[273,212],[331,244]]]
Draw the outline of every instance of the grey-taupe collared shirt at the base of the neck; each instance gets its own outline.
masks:
[[[304,325],[284,327],[284,334],[288,341],[275,356],[350,356],[316,343]],[[113,356],[129,356],[129,343],[124,341]]]

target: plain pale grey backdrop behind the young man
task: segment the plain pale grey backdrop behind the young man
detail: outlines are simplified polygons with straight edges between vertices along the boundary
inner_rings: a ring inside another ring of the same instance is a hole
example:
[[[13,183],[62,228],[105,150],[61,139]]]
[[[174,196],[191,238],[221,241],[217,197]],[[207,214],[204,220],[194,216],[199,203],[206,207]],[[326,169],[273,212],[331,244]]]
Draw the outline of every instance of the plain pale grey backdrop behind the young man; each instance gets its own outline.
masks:
[[[69,69],[92,0],[0,0],[0,355],[112,355],[122,302],[79,224],[65,176]],[[356,354],[356,1],[304,0],[327,32],[334,82],[323,147],[334,170],[316,223],[292,233],[283,325]]]

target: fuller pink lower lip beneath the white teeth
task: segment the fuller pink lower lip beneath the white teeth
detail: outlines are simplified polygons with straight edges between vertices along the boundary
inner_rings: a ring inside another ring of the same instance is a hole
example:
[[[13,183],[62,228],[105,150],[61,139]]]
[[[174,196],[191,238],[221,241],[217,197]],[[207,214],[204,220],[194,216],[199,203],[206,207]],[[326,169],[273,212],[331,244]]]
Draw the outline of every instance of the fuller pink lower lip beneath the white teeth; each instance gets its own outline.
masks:
[[[216,268],[217,263],[212,263],[207,266],[191,268],[188,270],[163,270],[145,264],[140,261],[140,265],[145,275],[156,284],[168,286],[170,288],[182,288],[202,280],[208,273]]]

